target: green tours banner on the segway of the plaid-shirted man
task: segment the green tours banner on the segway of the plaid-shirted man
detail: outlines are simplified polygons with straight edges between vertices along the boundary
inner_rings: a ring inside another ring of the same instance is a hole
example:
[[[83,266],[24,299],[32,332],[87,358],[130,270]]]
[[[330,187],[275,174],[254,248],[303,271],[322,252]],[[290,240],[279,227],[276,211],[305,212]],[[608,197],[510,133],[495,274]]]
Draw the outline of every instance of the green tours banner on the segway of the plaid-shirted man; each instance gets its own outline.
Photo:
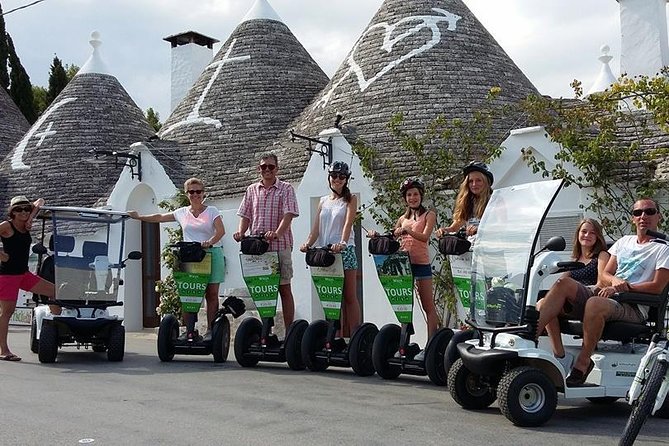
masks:
[[[239,254],[239,261],[244,282],[260,317],[276,316],[276,302],[281,281],[279,253]]]

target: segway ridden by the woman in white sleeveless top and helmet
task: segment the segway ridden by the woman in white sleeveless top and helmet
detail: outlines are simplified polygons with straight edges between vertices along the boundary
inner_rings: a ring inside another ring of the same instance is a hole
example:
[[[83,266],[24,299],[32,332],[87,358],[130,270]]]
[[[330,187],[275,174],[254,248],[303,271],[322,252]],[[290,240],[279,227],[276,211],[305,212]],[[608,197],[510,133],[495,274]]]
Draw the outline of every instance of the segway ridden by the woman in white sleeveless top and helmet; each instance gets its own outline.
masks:
[[[329,248],[312,248],[306,254],[325,320],[313,321],[304,332],[304,364],[313,372],[323,371],[332,365],[351,367],[359,376],[373,375],[372,345],[379,332],[376,325],[369,322],[360,325],[348,343],[344,337],[337,336],[341,329],[344,290],[342,255],[333,253]]]

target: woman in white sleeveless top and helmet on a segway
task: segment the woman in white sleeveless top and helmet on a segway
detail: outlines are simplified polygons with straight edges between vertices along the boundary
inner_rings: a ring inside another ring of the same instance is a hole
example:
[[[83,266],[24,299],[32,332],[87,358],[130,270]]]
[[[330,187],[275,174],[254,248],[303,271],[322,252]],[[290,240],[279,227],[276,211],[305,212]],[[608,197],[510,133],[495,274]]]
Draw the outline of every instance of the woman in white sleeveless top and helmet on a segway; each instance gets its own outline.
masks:
[[[343,336],[350,336],[360,325],[360,304],[357,296],[358,259],[355,255],[353,222],[358,211],[358,199],[351,194],[348,180],[351,171],[348,164],[335,161],[328,169],[328,183],[332,193],[321,197],[311,232],[300,246],[306,252],[316,246],[332,246],[333,252],[341,252],[344,261],[344,305],[342,312]]]

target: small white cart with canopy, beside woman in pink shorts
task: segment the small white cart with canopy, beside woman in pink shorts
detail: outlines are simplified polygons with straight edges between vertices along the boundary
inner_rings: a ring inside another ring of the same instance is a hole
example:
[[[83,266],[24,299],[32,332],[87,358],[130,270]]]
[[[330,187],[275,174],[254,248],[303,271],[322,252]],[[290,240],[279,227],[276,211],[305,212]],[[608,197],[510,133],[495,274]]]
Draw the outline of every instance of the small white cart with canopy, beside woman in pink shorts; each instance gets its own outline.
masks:
[[[75,207],[44,207],[42,242],[33,247],[39,255],[39,274],[55,284],[53,299],[61,313],[52,314],[49,305],[34,309],[30,348],[42,363],[56,360],[65,346],[107,352],[110,361],[122,361],[125,352],[123,318],[108,308],[121,306],[121,270],[128,259],[140,259],[133,251],[123,258],[125,212]],[[49,250],[44,246],[47,228]],[[51,254],[48,254],[51,251]]]

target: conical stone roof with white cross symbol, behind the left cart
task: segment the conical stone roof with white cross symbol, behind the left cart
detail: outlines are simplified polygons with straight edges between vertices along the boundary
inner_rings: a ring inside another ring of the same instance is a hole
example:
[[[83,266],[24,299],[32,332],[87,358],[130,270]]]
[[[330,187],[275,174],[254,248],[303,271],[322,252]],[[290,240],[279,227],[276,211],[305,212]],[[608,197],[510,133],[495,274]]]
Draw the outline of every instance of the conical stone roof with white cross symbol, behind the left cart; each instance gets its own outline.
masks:
[[[92,149],[127,151],[154,132],[119,81],[77,74],[0,164],[0,206],[15,195],[50,205],[104,204],[122,166]]]

